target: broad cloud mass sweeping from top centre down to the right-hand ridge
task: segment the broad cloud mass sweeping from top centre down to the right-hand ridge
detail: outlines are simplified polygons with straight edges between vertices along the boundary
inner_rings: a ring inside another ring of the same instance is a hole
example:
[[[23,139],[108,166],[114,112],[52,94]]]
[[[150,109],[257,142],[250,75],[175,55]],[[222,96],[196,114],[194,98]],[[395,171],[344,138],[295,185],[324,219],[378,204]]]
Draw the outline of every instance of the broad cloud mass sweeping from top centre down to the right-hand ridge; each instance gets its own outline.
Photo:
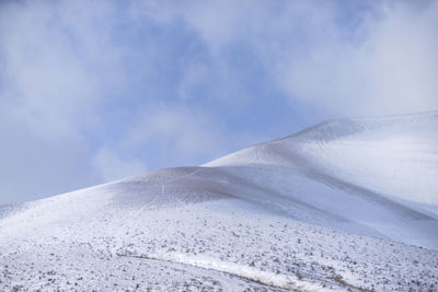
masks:
[[[172,13],[184,19],[221,63],[224,50],[243,44],[292,101],[325,117],[438,108],[438,3],[345,7],[336,1],[192,1],[170,9],[166,20]]]

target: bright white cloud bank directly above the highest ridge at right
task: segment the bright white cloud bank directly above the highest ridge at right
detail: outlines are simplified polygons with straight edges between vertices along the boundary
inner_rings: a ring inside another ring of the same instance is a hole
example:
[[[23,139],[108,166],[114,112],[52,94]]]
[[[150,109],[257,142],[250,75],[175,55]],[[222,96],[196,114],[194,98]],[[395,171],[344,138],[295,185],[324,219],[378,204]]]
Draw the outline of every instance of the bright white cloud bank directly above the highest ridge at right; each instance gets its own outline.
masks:
[[[437,109],[438,5],[408,5],[368,15],[357,28],[365,34],[359,42],[336,37],[291,56],[275,69],[280,85],[292,98],[337,116]]]

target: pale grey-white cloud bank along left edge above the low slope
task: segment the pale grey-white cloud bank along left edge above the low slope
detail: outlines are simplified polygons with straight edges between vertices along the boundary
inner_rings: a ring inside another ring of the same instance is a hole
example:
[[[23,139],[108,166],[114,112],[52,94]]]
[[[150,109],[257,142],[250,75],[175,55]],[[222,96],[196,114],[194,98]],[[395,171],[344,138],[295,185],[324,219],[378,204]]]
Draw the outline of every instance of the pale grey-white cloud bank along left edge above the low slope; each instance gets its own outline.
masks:
[[[108,45],[105,31],[114,9],[103,1],[0,4],[0,203],[102,182],[87,135],[102,127],[97,107],[123,77],[116,69],[126,51]]]

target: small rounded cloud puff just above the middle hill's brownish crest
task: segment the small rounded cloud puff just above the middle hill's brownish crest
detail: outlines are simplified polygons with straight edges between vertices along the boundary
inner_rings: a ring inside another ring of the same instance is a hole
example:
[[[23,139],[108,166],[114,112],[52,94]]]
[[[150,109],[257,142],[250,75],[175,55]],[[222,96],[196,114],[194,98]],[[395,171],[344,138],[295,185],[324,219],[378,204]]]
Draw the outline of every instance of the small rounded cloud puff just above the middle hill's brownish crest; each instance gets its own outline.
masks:
[[[153,149],[150,159],[168,161],[166,166],[185,161],[201,163],[230,147],[224,143],[222,125],[201,110],[162,105],[145,110],[143,116],[120,142],[123,149]]]

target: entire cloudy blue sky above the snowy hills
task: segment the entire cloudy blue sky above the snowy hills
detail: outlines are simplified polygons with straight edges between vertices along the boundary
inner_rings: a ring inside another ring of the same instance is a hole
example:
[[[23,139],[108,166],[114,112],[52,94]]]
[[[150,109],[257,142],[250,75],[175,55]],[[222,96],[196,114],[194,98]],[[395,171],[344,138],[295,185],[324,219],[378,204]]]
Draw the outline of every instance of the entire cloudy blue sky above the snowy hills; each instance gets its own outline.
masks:
[[[438,109],[438,1],[1,1],[0,203]]]

